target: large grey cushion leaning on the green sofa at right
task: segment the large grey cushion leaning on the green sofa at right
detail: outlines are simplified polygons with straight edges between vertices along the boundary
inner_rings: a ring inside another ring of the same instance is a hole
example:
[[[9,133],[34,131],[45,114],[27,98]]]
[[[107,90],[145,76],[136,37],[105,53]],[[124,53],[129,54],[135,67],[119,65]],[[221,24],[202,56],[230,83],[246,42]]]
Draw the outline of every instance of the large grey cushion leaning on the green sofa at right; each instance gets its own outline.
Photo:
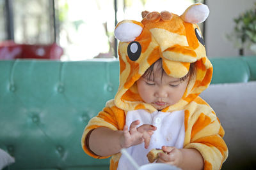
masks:
[[[225,130],[228,159],[223,169],[256,167],[256,81],[210,85],[200,96],[211,105]]]

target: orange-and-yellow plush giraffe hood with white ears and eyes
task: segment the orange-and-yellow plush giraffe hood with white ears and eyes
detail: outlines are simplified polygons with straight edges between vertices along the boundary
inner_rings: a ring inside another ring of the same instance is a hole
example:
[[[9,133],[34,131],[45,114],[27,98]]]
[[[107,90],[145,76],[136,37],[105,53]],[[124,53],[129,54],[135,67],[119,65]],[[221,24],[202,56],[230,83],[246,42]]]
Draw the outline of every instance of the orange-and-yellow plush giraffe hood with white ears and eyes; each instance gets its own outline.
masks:
[[[189,81],[182,99],[162,111],[182,109],[211,82],[212,64],[207,59],[204,39],[197,25],[208,17],[209,8],[196,3],[180,16],[168,11],[143,11],[141,14],[141,22],[123,20],[115,28],[115,37],[120,40],[120,85],[115,104],[126,111],[155,111],[156,108],[143,102],[135,82],[162,58],[164,71],[175,78],[185,76],[190,64],[195,62],[196,76]]]

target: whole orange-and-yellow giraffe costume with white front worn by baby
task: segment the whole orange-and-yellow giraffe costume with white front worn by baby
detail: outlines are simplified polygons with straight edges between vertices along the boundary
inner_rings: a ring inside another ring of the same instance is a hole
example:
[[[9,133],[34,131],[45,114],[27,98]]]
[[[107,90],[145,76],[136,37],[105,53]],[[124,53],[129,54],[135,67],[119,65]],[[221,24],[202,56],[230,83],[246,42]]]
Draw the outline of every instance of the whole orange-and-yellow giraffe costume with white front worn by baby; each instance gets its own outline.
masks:
[[[127,148],[138,164],[147,164],[149,150],[164,145],[195,148],[204,158],[204,169],[221,168],[228,155],[222,139],[224,130],[209,104],[198,96],[212,78],[212,64],[207,59],[204,39],[196,25],[204,22],[208,15],[208,7],[196,3],[180,16],[168,11],[143,11],[141,22],[124,20],[116,25],[115,36],[120,40],[120,85],[115,99],[108,101],[84,129],[81,141],[84,152],[97,159],[107,158],[90,152],[86,135],[97,127],[122,131],[125,124],[129,127],[131,122],[139,119],[140,125],[152,124],[157,130],[148,149],[143,143]],[[189,81],[179,102],[157,111],[151,104],[143,102],[136,81],[160,58],[169,76],[182,78],[192,62],[195,62],[196,76]],[[133,168],[121,153],[110,156],[110,169]]]

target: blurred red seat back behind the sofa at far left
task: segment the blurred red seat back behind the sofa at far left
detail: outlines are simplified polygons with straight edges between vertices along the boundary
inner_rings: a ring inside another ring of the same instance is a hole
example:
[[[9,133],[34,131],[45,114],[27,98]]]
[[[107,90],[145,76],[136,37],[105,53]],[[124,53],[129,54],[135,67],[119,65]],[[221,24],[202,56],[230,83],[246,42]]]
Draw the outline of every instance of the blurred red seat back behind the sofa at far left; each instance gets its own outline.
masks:
[[[0,42],[0,60],[14,59],[54,59],[60,60],[63,48],[51,45],[17,44],[12,40]]]

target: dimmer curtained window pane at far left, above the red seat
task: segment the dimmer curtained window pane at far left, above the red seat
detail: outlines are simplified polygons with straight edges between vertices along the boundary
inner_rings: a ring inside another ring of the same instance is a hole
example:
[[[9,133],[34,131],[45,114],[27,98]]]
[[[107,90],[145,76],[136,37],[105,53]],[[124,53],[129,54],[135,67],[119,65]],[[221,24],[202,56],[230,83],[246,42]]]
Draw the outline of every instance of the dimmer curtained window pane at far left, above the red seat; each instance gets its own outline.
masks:
[[[49,44],[54,42],[51,2],[12,0],[16,43]]]

